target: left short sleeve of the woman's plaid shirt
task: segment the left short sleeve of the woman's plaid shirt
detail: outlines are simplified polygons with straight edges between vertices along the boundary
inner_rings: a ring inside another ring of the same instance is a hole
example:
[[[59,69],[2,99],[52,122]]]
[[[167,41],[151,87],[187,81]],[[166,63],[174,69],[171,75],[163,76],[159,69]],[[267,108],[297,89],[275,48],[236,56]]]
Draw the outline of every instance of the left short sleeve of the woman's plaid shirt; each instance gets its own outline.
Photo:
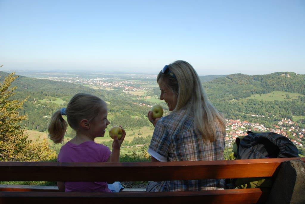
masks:
[[[170,146],[170,135],[165,126],[158,121],[152,134],[148,153],[159,161],[167,161]]]

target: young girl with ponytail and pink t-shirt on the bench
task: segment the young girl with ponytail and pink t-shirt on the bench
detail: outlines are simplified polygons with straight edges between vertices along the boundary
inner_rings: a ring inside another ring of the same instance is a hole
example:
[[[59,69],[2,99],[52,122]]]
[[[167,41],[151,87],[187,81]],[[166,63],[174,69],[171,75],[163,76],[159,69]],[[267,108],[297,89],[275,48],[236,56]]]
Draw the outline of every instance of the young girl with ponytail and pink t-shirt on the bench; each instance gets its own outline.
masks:
[[[49,137],[54,143],[63,141],[67,122],[76,131],[76,136],[63,145],[58,154],[58,162],[119,162],[120,147],[126,132],[120,140],[117,137],[109,148],[94,142],[95,137],[104,137],[109,125],[107,119],[107,104],[100,98],[89,94],[76,94],[70,100],[67,108],[56,111],[48,126]],[[88,172],[90,173],[90,172]],[[123,188],[120,182],[57,182],[58,188],[65,192],[120,192]]]

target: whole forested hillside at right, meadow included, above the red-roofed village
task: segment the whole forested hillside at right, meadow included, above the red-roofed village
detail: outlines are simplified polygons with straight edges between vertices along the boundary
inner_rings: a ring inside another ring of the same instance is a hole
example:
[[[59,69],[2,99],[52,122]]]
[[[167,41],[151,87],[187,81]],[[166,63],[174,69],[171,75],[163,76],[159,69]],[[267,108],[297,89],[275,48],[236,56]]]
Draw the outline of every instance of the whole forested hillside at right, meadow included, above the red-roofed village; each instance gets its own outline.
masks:
[[[293,115],[305,115],[304,81],[304,74],[293,72],[253,76],[231,74],[203,83],[203,87],[213,105],[226,117],[254,120],[270,126],[277,117],[292,119]],[[270,101],[273,96],[267,94],[274,91],[283,92],[283,100],[274,98]],[[298,96],[291,98],[292,93],[298,93]],[[249,98],[254,94],[260,95],[260,99]],[[264,117],[253,118],[252,114]]]

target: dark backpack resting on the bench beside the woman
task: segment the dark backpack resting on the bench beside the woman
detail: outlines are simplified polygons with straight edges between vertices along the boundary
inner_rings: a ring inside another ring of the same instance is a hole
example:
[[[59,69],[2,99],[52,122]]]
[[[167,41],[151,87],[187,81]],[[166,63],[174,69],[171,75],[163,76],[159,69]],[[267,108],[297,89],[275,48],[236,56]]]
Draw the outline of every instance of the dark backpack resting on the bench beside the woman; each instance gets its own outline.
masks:
[[[299,157],[298,149],[286,137],[277,133],[247,132],[247,136],[236,138],[233,145],[236,159],[263,159]],[[230,188],[270,188],[273,178],[238,178],[231,179]]]

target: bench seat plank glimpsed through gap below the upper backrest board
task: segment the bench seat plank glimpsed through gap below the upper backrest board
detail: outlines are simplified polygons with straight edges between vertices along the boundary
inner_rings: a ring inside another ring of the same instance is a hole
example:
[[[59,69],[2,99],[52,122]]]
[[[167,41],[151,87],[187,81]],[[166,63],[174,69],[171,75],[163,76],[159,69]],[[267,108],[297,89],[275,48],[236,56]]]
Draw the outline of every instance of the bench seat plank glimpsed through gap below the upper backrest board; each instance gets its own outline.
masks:
[[[0,185],[0,192],[59,192],[57,186]],[[124,188],[120,192],[145,192],[145,188]]]

